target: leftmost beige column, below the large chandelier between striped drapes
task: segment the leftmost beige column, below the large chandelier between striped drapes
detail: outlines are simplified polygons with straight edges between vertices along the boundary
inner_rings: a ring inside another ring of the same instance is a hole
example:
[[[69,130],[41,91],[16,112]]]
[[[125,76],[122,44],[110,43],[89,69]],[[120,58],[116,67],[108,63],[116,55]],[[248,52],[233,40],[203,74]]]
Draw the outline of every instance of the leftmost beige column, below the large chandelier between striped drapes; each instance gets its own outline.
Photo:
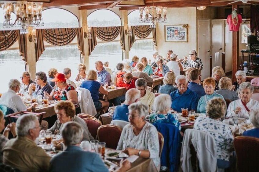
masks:
[[[29,41],[29,33],[26,34],[27,46],[26,46],[26,53],[27,53],[27,65],[26,71],[30,72],[31,80],[35,80],[35,73],[36,73],[36,54],[35,54],[35,43],[34,41]],[[21,75],[21,74],[20,74]]]

